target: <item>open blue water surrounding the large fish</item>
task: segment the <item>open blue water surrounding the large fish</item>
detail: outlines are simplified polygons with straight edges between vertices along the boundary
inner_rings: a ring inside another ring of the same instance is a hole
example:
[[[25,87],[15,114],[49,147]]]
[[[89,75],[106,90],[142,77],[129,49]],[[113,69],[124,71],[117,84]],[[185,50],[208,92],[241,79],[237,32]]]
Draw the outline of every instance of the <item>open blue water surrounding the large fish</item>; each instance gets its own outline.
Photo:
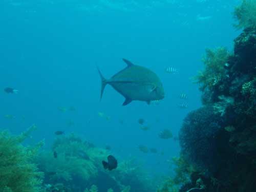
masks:
[[[239,33],[232,27],[232,11],[239,1],[125,2],[0,1],[0,89],[19,90],[0,94],[1,130],[19,134],[34,123],[38,130],[27,142],[45,139],[45,148],[55,131],[73,132],[96,146],[110,145],[119,159],[137,158],[152,174],[170,171],[167,160],[179,154],[179,143],[158,134],[170,129],[178,136],[185,115],[201,105],[191,77],[203,69],[205,48],[231,50]],[[159,75],[166,95],[159,105],[133,101],[122,106],[124,98],[110,86],[99,102],[96,66],[110,78],[125,67],[121,58]],[[179,74],[166,73],[166,67]],[[188,96],[187,109],[177,107],[183,102],[180,93]],[[76,111],[63,113],[60,106]],[[139,129],[139,118],[149,131]],[[159,153],[143,154],[140,144]]]

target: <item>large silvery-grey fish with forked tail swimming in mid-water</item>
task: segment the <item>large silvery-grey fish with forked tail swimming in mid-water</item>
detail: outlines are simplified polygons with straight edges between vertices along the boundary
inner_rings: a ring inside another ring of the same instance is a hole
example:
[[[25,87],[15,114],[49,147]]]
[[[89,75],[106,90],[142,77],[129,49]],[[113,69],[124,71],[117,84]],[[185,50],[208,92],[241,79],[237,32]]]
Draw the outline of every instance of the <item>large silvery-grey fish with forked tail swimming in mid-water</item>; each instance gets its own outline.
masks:
[[[159,77],[151,70],[134,65],[129,60],[123,59],[127,67],[109,80],[105,79],[99,71],[101,77],[100,99],[106,84],[110,84],[117,92],[125,97],[123,105],[127,105],[133,100],[146,101],[150,104],[153,100],[164,98],[164,89]]]

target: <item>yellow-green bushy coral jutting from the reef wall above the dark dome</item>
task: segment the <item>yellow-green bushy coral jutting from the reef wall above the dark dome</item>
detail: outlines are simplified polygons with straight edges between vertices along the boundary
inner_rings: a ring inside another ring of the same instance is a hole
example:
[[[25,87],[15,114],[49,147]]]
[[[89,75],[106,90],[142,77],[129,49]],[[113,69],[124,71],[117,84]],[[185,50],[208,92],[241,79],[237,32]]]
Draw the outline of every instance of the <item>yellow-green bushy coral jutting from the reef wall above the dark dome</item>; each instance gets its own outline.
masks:
[[[230,53],[224,47],[216,49],[206,49],[206,54],[202,58],[205,69],[194,77],[197,83],[201,84],[201,90],[214,88],[223,77],[225,77],[225,65]]]

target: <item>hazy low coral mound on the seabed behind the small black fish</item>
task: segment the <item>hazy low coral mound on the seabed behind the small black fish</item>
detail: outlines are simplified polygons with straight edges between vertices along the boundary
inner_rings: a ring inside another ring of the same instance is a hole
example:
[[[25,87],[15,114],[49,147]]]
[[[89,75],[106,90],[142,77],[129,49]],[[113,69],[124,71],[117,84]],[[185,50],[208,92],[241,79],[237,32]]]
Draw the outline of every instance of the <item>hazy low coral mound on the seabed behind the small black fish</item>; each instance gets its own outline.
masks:
[[[109,155],[109,150],[94,147],[71,134],[57,137],[52,152],[42,152],[36,162],[45,172],[44,183],[51,186],[49,191],[54,191],[57,183],[65,186],[65,189],[60,187],[65,192],[106,192],[110,188],[117,192],[152,190],[144,172],[132,161],[120,161],[117,169],[105,170],[102,160]]]

